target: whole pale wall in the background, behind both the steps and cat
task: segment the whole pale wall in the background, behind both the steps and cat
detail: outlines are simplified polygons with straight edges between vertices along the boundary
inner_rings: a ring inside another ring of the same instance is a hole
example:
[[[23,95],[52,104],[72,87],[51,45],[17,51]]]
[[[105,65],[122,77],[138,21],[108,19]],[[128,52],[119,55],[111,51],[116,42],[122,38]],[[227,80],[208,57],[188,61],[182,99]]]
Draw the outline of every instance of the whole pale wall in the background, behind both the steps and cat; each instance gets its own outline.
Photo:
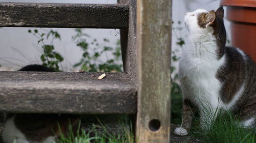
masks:
[[[0,2],[40,2],[40,3],[87,3],[87,4],[115,4],[116,0],[0,0]],[[194,11],[198,8],[212,10],[219,7],[219,0],[173,0],[173,27],[180,26],[178,21],[183,21],[186,12]],[[183,23],[181,31],[174,30],[173,32],[173,49],[180,48],[176,45],[177,37],[187,37]],[[32,28],[33,29],[33,28]],[[226,22],[227,32],[229,31],[228,23]],[[44,31],[45,28],[41,28]],[[0,65],[2,69],[16,70],[28,64],[40,64],[39,56],[41,54],[40,45],[37,44],[37,39],[29,34],[28,28],[23,27],[3,27],[0,28]],[[71,40],[71,36],[75,34],[72,28],[59,28],[58,32],[61,35],[61,41],[55,41],[55,48],[65,56],[63,69],[70,70],[72,65],[78,62],[81,58],[81,50]],[[116,40],[119,39],[119,30],[108,29],[86,29],[86,32],[92,37],[102,40],[109,38],[110,46],[114,46]],[[229,33],[229,32],[228,32]],[[16,49],[16,50],[14,50]],[[19,52],[17,52],[17,50]],[[22,55],[22,54],[23,55]],[[26,58],[24,58],[24,56]],[[0,69],[1,70],[1,69]]]

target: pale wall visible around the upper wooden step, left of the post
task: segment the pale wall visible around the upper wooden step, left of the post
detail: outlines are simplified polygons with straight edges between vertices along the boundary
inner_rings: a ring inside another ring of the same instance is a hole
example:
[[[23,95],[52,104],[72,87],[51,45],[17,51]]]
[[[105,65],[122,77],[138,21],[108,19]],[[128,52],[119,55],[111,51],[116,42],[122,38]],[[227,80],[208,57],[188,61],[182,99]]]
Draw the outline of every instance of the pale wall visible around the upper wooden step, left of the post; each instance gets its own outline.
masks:
[[[20,3],[86,3],[86,4],[115,4],[116,0],[0,0],[0,2],[20,2]],[[40,64],[40,55],[42,49],[37,44],[37,38],[28,33],[29,28],[24,27],[3,27],[0,28],[0,65],[2,69],[19,69],[28,64]],[[32,30],[34,28],[31,28]],[[64,57],[62,62],[62,69],[70,71],[72,65],[81,59],[82,50],[76,46],[71,37],[75,35],[73,28],[54,28],[58,30],[61,35],[61,41],[55,40],[54,45],[58,52]],[[41,28],[41,32],[47,31],[47,28]],[[119,30],[114,29],[86,29],[91,37],[103,40],[103,38],[110,39],[111,46],[114,46],[117,39],[119,39]],[[17,50],[19,52],[17,52]],[[24,58],[24,56],[26,58]]]

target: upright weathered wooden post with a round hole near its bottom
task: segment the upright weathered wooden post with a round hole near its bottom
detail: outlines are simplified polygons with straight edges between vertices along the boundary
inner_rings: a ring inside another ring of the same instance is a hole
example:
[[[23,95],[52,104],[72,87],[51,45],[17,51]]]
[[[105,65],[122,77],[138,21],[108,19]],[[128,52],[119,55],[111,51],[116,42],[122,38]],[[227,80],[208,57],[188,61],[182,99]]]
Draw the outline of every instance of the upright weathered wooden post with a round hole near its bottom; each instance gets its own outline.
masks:
[[[172,0],[137,0],[138,143],[169,143]]]

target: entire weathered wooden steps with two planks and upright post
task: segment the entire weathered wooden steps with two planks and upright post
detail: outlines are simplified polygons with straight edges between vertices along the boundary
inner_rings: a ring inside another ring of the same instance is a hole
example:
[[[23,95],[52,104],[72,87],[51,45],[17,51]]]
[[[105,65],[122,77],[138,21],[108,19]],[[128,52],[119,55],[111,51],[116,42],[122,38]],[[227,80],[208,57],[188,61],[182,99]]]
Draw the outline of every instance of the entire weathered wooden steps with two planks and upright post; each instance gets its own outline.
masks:
[[[169,142],[171,24],[172,0],[0,3],[0,26],[120,28],[124,66],[102,80],[101,73],[2,71],[0,111],[125,113],[137,117],[136,142]]]

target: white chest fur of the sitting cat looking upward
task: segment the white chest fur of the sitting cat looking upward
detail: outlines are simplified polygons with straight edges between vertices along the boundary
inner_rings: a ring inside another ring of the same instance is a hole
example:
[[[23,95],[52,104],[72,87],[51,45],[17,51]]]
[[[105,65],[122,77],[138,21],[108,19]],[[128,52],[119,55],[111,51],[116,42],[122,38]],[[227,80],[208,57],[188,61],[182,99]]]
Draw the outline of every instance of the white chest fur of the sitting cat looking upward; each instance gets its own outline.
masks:
[[[179,65],[183,96],[194,101],[197,106],[209,102],[216,108],[221,88],[216,74],[223,66],[225,56],[218,60],[216,43],[203,38],[191,45],[183,48]]]

